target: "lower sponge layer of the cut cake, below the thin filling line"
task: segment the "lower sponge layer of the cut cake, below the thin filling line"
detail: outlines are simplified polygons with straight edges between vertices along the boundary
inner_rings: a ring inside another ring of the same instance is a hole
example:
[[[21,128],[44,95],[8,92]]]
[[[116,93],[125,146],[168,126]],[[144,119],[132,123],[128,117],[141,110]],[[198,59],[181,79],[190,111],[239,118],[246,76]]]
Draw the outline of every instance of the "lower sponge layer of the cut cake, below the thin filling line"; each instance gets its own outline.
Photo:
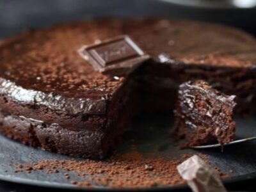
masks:
[[[114,138],[124,131],[120,128],[126,127],[127,122],[129,116],[124,114],[118,118],[118,121],[113,122],[111,129],[97,127],[97,129],[74,131],[65,129],[59,124],[45,124],[40,120],[1,112],[0,132],[13,140],[51,152],[102,159],[113,145]]]

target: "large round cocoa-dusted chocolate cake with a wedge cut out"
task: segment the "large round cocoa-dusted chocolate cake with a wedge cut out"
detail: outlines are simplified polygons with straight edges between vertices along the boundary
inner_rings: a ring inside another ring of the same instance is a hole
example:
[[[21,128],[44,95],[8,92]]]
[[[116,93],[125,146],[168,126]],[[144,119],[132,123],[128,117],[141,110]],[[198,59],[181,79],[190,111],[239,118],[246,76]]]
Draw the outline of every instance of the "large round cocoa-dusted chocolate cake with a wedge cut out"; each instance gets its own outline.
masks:
[[[90,52],[124,35],[139,47],[125,57],[131,65]],[[0,131],[45,150],[103,158],[131,115],[173,109],[188,79],[236,93],[237,111],[255,112],[255,42],[238,29],[162,19],[91,20],[13,36],[0,46]]]

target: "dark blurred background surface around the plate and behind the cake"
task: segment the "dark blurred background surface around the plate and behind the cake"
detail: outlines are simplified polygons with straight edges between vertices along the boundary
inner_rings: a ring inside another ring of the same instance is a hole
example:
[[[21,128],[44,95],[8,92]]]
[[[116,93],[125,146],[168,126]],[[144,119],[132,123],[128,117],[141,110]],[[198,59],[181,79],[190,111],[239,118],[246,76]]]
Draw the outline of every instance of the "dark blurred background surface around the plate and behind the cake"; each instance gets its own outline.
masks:
[[[202,3],[199,0],[187,0],[188,6],[182,5],[185,1],[177,1],[179,4],[154,0],[0,0],[0,38],[6,38],[29,28],[51,26],[70,20],[148,16],[217,22],[236,26],[256,35],[255,7],[237,8],[230,1],[222,1],[212,6],[212,4],[204,4],[205,1],[202,0]],[[256,191],[256,180],[229,184],[227,188],[234,191]],[[0,191],[3,192],[40,190],[56,191],[0,182]]]

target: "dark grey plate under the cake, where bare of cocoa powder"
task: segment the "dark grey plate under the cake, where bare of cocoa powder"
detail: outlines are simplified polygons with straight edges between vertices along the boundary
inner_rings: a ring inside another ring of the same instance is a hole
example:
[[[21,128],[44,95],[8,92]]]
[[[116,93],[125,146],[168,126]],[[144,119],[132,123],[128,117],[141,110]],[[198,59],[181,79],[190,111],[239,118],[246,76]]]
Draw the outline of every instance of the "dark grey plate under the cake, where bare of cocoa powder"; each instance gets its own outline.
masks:
[[[179,157],[188,152],[202,152],[209,157],[212,164],[218,166],[230,177],[224,182],[236,182],[256,177],[256,142],[250,141],[239,145],[227,146],[224,152],[220,148],[207,150],[179,150],[173,145],[174,141],[168,137],[173,118],[169,114],[148,114],[136,118],[131,131],[125,132],[123,142],[117,148],[118,153],[129,152],[132,148],[143,156],[154,154],[156,157]],[[256,120],[250,118],[237,118],[237,138],[256,135]],[[16,141],[0,136],[0,179],[35,186],[51,186],[62,189],[78,189],[68,182],[60,173],[47,174],[44,171],[31,173],[15,173],[15,164],[31,163],[41,159],[68,159],[68,156],[61,156],[45,152],[32,147],[27,147]],[[6,172],[6,170],[8,172]],[[233,170],[232,173],[229,171]],[[70,180],[79,180],[76,174],[70,173]],[[186,186],[156,187],[152,189],[184,189]],[[109,188],[95,188],[109,189]],[[90,189],[91,190],[91,189]]]

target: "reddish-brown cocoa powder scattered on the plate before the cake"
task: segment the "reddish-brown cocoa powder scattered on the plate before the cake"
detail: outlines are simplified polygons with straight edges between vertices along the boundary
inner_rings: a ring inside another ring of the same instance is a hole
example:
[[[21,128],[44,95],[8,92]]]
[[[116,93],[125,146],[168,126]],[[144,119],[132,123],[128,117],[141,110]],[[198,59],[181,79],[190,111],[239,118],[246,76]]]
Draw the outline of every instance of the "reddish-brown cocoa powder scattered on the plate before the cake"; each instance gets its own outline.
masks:
[[[198,155],[209,163],[206,156]],[[115,155],[104,161],[45,159],[36,163],[17,164],[16,171],[43,170],[52,174],[64,170],[63,177],[66,179],[70,179],[69,173],[72,172],[76,173],[80,180],[72,179],[70,183],[84,188],[93,188],[93,186],[108,186],[110,188],[174,186],[185,184],[177,172],[177,165],[191,156],[193,154],[185,154],[177,159],[163,159],[163,157],[143,157],[139,152],[133,151]]]

